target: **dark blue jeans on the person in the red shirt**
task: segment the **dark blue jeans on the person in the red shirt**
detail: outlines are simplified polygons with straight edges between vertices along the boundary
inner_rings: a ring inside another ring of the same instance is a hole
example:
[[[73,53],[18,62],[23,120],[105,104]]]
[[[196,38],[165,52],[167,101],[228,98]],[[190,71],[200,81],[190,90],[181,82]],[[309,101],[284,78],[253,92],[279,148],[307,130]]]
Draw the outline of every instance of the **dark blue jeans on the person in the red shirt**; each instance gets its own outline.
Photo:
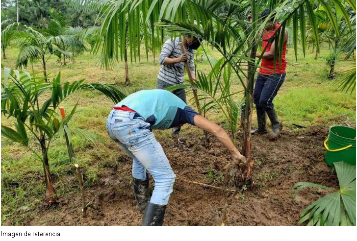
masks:
[[[256,77],[253,101],[256,109],[268,110],[274,107],[273,99],[284,83],[285,73],[262,75]]]

